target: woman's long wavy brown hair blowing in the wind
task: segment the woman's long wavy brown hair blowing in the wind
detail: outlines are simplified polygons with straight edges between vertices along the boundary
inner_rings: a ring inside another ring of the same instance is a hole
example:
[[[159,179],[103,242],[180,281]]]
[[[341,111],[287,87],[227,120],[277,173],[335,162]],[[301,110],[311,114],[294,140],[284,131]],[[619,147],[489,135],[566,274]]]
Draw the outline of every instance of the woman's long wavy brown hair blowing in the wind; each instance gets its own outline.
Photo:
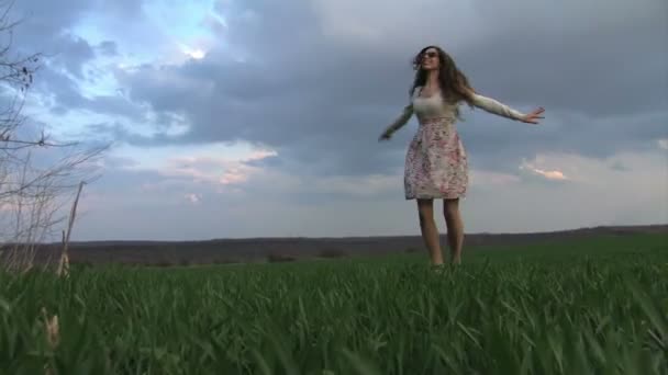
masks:
[[[468,83],[466,76],[457,68],[455,60],[438,46],[426,46],[413,58],[415,79],[411,88],[411,96],[417,87],[426,83],[427,71],[422,69],[422,60],[427,49],[434,48],[438,53],[438,83],[443,99],[449,103],[467,102],[472,106],[471,92],[474,89]]]

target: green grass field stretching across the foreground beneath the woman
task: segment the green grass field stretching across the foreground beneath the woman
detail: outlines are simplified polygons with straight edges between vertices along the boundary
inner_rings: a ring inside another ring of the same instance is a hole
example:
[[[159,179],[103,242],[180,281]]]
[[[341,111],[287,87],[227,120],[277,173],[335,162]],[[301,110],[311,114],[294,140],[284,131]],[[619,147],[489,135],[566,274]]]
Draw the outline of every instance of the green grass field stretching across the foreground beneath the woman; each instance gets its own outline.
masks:
[[[0,275],[0,373],[668,373],[666,235],[467,250]]]

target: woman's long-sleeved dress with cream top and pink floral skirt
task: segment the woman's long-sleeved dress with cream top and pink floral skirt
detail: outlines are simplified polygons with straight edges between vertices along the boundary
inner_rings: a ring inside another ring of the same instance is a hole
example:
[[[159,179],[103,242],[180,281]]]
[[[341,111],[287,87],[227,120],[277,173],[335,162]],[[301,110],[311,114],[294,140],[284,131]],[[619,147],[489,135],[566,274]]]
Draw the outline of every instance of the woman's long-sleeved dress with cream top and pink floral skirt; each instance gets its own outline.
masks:
[[[461,198],[468,188],[468,158],[457,132],[458,103],[448,103],[441,93],[420,95],[415,89],[403,114],[386,129],[391,134],[414,113],[420,126],[409,145],[404,167],[407,200]],[[512,120],[524,115],[498,101],[474,94],[474,105]]]

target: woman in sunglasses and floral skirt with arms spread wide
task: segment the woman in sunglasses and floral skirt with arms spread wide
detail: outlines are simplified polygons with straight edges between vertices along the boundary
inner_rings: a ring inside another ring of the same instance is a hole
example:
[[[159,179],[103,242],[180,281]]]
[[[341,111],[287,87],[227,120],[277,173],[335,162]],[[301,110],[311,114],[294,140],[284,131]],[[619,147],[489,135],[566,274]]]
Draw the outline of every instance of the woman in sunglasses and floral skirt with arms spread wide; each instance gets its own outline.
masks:
[[[405,157],[405,198],[417,202],[422,238],[435,266],[443,264],[443,254],[433,202],[443,200],[450,261],[459,264],[464,242],[459,198],[466,195],[468,185],[467,156],[455,126],[459,103],[466,102],[470,106],[528,124],[537,124],[538,118],[544,118],[541,114],[545,110],[538,107],[523,114],[476,93],[453,58],[437,46],[423,48],[413,59],[413,67],[416,73],[411,88],[411,103],[379,139],[390,139],[415,113],[420,127]]]

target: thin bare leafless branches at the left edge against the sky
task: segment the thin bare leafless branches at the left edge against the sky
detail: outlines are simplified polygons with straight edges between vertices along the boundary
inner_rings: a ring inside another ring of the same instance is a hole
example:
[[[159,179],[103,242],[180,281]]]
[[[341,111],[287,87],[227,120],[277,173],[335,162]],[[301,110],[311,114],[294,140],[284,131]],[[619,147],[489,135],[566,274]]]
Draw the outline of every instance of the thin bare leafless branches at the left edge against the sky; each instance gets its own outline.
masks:
[[[43,55],[12,55],[19,22],[8,19],[11,3],[0,8],[0,41],[7,41],[0,45],[0,269],[25,271],[35,265],[40,247],[59,232],[65,207],[75,198],[67,223],[69,241],[80,188],[98,178],[97,159],[108,146],[86,148],[51,139],[44,132],[30,134],[23,105]],[[51,255],[42,262],[48,263]]]

